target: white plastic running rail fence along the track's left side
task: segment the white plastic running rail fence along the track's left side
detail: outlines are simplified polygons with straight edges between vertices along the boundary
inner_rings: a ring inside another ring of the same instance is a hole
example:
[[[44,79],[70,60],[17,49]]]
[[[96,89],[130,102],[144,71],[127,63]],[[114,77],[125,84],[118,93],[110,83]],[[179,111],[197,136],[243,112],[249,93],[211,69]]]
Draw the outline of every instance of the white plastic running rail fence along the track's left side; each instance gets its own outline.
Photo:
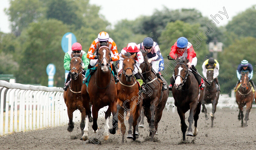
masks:
[[[61,88],[0,80],[0,91],[0,135],[60,126],[68,122]]]

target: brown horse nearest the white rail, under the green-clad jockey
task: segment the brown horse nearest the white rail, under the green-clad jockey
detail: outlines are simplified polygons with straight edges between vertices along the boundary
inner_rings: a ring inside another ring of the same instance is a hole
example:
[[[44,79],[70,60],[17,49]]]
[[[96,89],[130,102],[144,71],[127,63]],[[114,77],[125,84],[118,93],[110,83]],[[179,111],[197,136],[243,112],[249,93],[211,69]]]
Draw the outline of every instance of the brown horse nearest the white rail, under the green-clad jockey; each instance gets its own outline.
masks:
[[[69,83],[69,87],[67,91],[64,91],[63,98],[67,106],[69,123],[67,130],[72,132],[74,129],[73,123],[73,112],[75,110],[80,110],[81,112],[81,123],[80,128],[82,131],[82,135],[84,134],[84,120],[85,120],[85,109],[82,104],[81,97],[81,88],[83,85],[83,76],[82,76],[82,63],[81,63],[82,54],[80,57],[73,57],[70,61],[70,77],[71,82]]]

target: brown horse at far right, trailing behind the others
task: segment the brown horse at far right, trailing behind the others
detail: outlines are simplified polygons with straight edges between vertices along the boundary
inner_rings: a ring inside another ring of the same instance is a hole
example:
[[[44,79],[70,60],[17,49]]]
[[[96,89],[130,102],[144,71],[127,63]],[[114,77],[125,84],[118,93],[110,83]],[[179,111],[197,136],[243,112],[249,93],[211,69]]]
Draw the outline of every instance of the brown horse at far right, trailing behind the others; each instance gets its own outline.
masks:
[[[254,93],[253,93],[253,87],[249,82],[249,77],[248,77],[248,71],[241,72],[241,80],[242,82],[240,83],[241,85],[236,91],[236,103],[238,104],[239,108],[239,114],[238,114],[238,120],[241,120],[241,126],[242,127],[247,127],[247,120],[249,120],[249,113],[251,111],[252,107],[252,102],[254,98]],[[246,105],[246,113],[245,113],[245,118],[244,118],[244,106]],[[245,123],[243,121],[245,120]]]

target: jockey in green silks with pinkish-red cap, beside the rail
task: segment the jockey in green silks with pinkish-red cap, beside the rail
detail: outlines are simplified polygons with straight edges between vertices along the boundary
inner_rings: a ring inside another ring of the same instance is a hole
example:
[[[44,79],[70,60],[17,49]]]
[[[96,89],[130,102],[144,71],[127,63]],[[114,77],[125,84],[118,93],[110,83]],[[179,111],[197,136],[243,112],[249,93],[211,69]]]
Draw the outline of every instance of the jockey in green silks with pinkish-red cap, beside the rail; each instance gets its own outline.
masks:
[[[64,68],[65,70],[69,71],[65,85],[63,87],[63,89],[65,91],[67,91],[68,85],[66,85],[66,83],[69,81],[70,79],[70,61],[71,61],[71,54],[73,54],[74,57],[79,57],[80,54],[82,53],[82,74],[85,75],[85,71],[88,67],[89,64],[89,59],[86,58],[86,52],[82,50],[82,46],[80,43],[74,43],[72,45],[72,51],[68,51],[66,52],[65,56],[64,56]]]

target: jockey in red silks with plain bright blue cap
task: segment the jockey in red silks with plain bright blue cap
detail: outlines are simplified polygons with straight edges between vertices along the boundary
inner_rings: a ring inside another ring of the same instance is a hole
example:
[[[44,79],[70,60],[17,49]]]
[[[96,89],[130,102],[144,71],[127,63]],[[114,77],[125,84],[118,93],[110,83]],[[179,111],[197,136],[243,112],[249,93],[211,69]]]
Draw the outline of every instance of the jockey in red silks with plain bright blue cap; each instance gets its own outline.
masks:
[[[202,78],[200,77],[195,66],[197,65],[197,57],[196,52],[193,49],[193,46],[190,42],[188,42],[187,38],[180,37],[177,42],[172,46],[171,52],[169,54],[174,60],[179,61],[180,59],[187,58],[189,61],[187,63],[188,68],[192,68],[194,71],[192,72],[199,83],[199,88],[204,88],[204,83],[202,82]],[[182,57],[183,56],[183,57]],[[169,90],[172,90],[172,85],[175,83],[173,76],[170,78]]]

